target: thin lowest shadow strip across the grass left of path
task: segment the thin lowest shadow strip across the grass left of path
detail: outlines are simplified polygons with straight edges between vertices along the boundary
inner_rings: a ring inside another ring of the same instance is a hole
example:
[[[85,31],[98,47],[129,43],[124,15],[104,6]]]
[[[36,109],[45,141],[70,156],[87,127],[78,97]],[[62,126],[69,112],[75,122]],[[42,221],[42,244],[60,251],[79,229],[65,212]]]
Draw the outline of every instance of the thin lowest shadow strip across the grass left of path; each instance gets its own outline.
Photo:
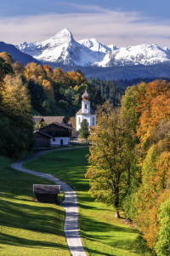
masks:
[[[48,242],[48,241],[35,241],[31,239],[16,237],[16,236],[10,236],[3,233],[0,233],[0,241],[1,244],[8,244],[12,246],[18,246],[18,247],[56,247],[58,250],[59,248],[68,250],[68,247],[65,245],[61,245],[57,242]],[[45,248],[43,248],[45,249]]]

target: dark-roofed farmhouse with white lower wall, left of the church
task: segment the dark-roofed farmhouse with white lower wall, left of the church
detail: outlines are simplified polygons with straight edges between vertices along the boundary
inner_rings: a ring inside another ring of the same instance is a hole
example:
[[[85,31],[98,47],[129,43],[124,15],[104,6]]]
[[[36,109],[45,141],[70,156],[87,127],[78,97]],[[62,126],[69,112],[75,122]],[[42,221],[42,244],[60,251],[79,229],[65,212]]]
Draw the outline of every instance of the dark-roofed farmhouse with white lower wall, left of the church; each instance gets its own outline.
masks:
[[[35,132],[34,148],[48,148],[54,146],[68,146],[73,128],[68,124],[64,125],[54,122],[42,126]]]

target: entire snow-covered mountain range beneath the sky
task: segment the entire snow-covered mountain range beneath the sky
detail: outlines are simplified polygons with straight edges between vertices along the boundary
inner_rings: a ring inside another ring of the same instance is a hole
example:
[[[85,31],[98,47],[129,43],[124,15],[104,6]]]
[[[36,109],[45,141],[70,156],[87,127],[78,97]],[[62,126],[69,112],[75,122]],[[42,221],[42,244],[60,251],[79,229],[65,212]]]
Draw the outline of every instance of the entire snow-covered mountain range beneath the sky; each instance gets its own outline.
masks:
[[[156,44],[118,48],[114,44],[100,44],[94,38],[76,41],[66,28],[48,40],[24,42],[15,47],[42,64],[51,63],[52,67],[148,66],[170,61],[170,49]]]

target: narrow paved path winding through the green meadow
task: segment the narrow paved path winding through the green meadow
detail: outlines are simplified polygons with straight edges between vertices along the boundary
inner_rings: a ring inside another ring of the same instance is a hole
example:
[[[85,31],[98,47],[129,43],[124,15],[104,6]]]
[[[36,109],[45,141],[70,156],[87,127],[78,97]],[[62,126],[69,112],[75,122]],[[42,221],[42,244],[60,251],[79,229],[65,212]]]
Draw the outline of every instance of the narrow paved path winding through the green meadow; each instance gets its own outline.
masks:
[[[85,147],[79,147],[79,148],[85,148]],[[54,149],[51,151],[57,151],[57,150],[65,150],[65,149],[73,149],[73,148],[60,148],[60,149]],[[76,149],[76,148],[74,148]],[[26,158],[25,160],[20,160],[19,162],[15,162],[12,164],[12,167],[16,170],[27,172],[39,177],[44,177],[47,179],[52,180],[54,183],[57,183],[61,186],[61,189],[63,189],[65,193],[65,200],[62,202],[61,206],[65,209],[65,225],[64,225],[64,231],[65,231],[65,238],[68,244],[68,247],[71,251],[72,256],[87,256],[87,254],[84,251],[84,248],[82,246],[82,240],[78,233],[78,207],[77,207],[77,194],[76,192],[71,189],[69,185],[59,180],[59,178],[54,177],[53,175],[50,175],[48,173],[42,173],[42,172],[33,172],[30,170],[26,170],[22,167],[24,163],[26,163],[29,160],[32,160],[42,154],[51,152],[49,150],[37,152],[36,154],[31,155],[30,157]]]

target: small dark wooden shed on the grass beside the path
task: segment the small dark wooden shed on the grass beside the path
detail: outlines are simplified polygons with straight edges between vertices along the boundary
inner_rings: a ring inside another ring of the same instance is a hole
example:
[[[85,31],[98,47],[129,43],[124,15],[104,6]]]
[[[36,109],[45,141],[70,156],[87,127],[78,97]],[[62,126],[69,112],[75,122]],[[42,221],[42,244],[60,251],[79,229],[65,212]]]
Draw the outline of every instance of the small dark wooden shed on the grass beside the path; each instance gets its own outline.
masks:
[[[37,201],[54,203],[60,194],[60,186],[33,184],[33,193],[36,194]]]

